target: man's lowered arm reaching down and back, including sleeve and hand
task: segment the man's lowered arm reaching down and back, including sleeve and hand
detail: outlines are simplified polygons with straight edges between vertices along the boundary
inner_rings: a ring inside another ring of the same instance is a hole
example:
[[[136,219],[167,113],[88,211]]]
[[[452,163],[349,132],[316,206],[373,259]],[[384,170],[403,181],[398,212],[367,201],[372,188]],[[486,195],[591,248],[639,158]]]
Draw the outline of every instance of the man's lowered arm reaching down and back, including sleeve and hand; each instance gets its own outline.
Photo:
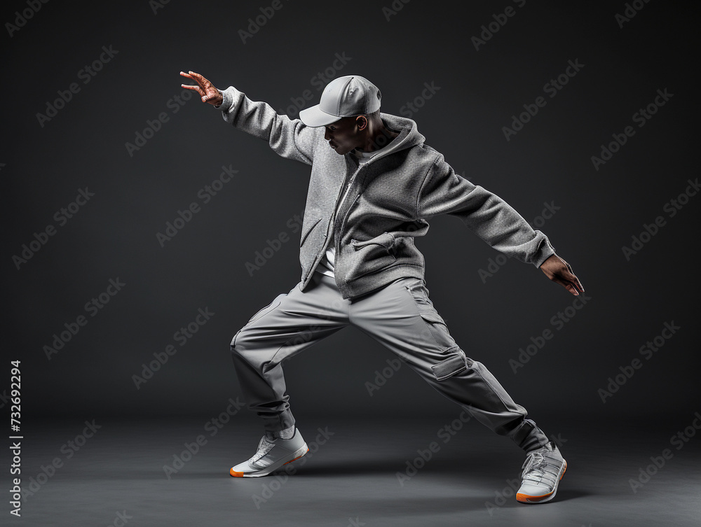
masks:
[[[506,255],[540,267],[552,281],[573,295],[584,292],[570,265],[555,254],[547,236],[531,225],[501,197],[455,173],[438,154],[429,169],[416,204],[418,218],[457,216],[467,227]]]

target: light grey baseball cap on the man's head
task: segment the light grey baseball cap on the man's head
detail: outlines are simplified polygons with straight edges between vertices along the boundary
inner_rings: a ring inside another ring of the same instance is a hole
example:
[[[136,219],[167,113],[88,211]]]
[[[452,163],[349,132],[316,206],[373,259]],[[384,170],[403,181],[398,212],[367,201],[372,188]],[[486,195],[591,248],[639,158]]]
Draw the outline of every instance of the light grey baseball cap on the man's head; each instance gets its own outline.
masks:
[[[346,75],[328,83],[319,104],[300,111],[299,118],[307,126],[326,126],[342,117],[367,115],[378,110],[380,98],[380,90],[367,78]]]

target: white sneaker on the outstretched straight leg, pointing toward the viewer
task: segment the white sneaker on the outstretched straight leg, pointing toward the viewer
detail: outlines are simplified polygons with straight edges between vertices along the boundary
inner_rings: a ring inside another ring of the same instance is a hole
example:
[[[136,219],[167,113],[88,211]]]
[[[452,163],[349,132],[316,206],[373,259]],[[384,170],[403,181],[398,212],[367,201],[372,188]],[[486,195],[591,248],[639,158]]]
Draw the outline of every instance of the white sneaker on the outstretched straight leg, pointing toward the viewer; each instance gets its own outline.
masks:
[[[567,470],[567,462],[552,443],[529,452],[523,464],[521,488],[516,500],[521,503],[545,503],[552,500],[557,485]]]

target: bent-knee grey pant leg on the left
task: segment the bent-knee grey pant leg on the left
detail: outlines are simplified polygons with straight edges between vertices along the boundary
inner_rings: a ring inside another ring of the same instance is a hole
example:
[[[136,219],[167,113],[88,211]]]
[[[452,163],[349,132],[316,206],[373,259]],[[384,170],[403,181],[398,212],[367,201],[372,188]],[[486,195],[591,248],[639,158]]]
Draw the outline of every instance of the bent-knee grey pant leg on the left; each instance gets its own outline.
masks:
[[[294,424],[283,361],[346,327],[348,303],[334,279],[315,273],[304,292],[297,284],[278,295],[234,335],[231,353],[243,398],[266,430]]]

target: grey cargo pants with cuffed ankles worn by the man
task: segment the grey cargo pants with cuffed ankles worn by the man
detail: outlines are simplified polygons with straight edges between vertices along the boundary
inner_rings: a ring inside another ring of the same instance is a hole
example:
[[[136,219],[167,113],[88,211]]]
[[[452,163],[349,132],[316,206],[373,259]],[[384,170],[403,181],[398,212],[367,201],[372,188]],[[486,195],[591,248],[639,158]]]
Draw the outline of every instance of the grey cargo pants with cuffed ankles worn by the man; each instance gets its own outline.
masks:
[[[530,451],[548,440],[482,363],[465,356],[428,298],[426,282],[397,279],[344,300],[336,281],[314,272],[258,311],[231,341],[243,398],[270,431],[294,424],[282,363],[347,325],[367,333],[480,423]]]

